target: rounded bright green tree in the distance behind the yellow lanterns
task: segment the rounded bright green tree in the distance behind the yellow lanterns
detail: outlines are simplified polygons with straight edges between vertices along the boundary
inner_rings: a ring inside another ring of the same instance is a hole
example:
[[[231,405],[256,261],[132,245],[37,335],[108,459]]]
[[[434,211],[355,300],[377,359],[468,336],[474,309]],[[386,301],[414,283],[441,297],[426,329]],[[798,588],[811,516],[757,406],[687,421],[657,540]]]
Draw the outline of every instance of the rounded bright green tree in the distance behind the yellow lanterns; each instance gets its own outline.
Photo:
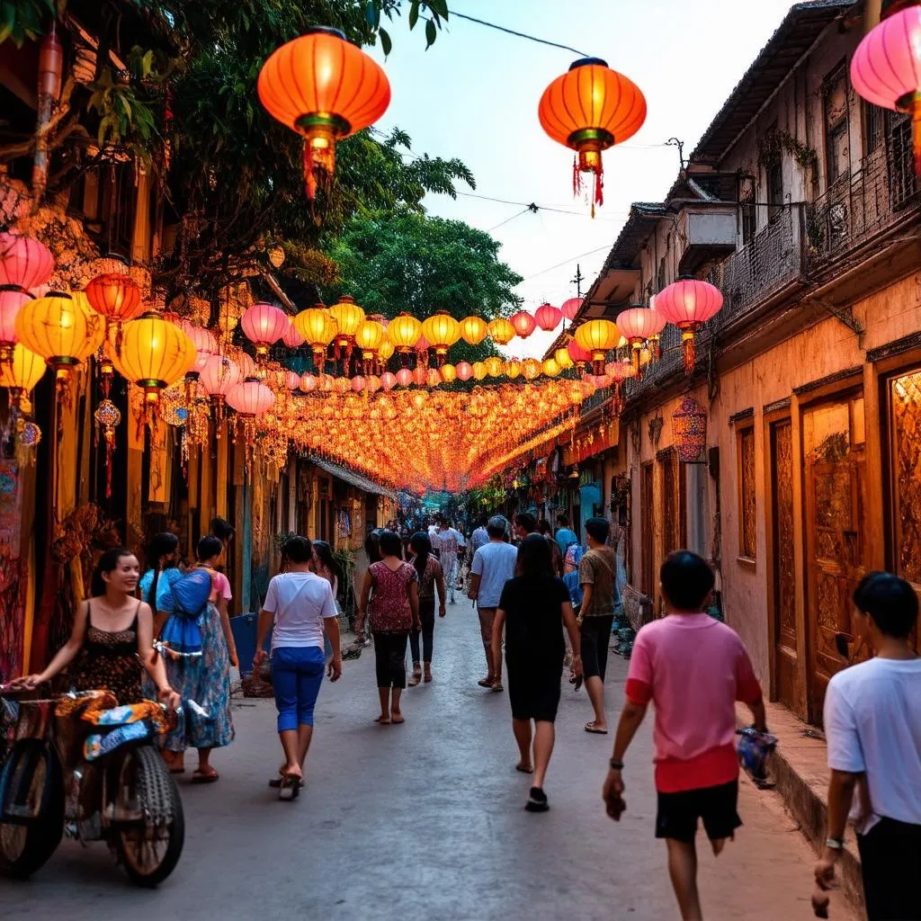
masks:
[[[326,302],[350,294],[367,313],[391,319],[402,310],[420,319],[447,310],[462,320],[510,316],[520,298],[521,276],[498,258],[499,243],[463,221],[429,217],[410,209],[358,215],[330,248],[340,281],[324,291]],[[486,343],[451,349],[452,362],[495,354]]]

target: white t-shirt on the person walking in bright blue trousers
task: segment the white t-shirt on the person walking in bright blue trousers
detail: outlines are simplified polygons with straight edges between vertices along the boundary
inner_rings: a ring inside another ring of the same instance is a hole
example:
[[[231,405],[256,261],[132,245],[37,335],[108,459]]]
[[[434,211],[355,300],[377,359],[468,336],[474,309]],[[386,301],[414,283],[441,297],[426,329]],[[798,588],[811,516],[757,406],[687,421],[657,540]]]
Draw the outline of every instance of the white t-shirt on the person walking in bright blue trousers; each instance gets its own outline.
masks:
[[[282,573],[269,582],[263,611],[275,615],[272,648],[323,648],[323,619],[336,616],[332,586],[313,573]]]

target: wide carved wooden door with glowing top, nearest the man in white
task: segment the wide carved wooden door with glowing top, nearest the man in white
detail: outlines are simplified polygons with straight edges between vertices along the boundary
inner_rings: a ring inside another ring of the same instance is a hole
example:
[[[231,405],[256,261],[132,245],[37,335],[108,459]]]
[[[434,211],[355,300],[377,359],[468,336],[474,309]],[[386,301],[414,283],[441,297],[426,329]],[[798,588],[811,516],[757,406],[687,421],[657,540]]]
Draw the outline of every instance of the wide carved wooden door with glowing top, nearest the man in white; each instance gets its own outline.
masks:
[[[860,396],[803,414],[809,717],[822,721],[825,688],[845,667],[834,637],[857,638],[851,593],[865,571],[864,403]]]

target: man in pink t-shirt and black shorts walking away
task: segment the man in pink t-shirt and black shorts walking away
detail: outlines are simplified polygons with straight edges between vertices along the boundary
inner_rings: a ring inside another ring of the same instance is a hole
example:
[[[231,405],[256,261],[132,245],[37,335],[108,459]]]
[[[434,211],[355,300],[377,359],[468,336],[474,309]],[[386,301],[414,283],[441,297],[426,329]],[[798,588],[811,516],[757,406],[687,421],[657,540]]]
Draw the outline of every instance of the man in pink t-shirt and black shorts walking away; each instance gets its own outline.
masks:
[[[761,687],[745,647],[726,624],[702,613],[713,571],[697,554],[670,554],[659,573],[666,617],[636,635],[626,703],[617,727],[603,792],[608,815],[624,811],[624,755],[647,706],[656,705],[656,837],[665,838],[671,883],[684,921],[698,921],[694,837],[703,819],[718,855],[741,821],[736,812],[739,763],[735,701],[749,705],[754,728],[766,732]]]

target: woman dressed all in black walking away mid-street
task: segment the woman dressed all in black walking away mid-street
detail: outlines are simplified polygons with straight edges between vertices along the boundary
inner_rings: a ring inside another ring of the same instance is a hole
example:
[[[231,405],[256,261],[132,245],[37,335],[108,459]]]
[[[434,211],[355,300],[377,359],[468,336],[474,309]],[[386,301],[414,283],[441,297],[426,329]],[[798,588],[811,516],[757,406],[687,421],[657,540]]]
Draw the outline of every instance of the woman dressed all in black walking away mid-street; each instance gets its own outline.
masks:
[[[516,576],[502,590],[493,624],[493,656],[501,668],[502,627],[506,629],[508,699],[512,730],[518,742],[517,770],[534,774],[525,809],[549,809],[543,781],[554,752],[554,720],[560,703],[560,673],[565,645],[563,629],[574,650],[579,648],[576,615],[563,580],[554,576],[550,545],[541,534],[529,534],[519,547]],[[582,673],[582,660],[573,657],[573,673]],[[531,720],[534,758],[531,762]]]

